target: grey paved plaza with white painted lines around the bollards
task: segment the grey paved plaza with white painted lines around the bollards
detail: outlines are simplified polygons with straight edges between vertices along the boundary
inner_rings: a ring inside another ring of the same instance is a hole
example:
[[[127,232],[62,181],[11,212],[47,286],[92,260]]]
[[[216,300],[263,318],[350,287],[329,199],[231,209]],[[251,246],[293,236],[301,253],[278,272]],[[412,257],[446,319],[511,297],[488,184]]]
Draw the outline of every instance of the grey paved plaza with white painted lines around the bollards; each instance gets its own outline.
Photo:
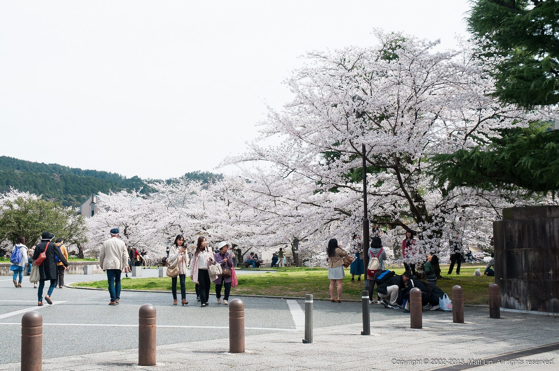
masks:
[[[66,281],[102,277],[67,275]],[[55,289],[54,305],[34,307],[36,291],[28,281],[24,286],[0,277],[0,370],[19,368],[21,317],[28,310],[43,317],[44,370],[555,370],[559,364],[558,317],[502,312],[495,320],[488,308],[466,307],[465,324],[454,324],[452,313],[424,311],[424,328],[413,330],[409,314],[371,305],[372,335],[361,336],[361,303],[315,301],[313,343],[302,344],[304,300],[243,297],[246,352],[230,354],[228,307],[215,297],[200,308],[193,295],[182,307],[171,304],[170,293],[122,292],[121,305],[110,307],[106,291],[65,287]],[[137,365],[144,303],[157,308],[155,367]]]

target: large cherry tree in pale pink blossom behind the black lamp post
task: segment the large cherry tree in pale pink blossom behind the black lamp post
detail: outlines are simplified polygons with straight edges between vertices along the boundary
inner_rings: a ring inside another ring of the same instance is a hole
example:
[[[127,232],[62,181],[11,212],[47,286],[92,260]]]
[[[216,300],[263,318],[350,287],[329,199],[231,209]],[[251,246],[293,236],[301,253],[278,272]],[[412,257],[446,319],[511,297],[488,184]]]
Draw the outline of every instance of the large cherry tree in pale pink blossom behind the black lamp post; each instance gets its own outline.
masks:
[[[295,99],[282,111],[269,108],[249,151],[224,162],[268,164],[243,174],[248,193],[235,201],[259,214],[267,232],[261,239],[305,239],[322,249],[331,236],[349,241],[361,229],[364,156],[369,219],[391,227],[395,246],[413,232],[413,259],[446,250],[456,233],[467,243],[486,243],[504,207],[537,199],[528,191],[437,186],[426,172],[430,158],[556,112],[526,111],[489,96],[493,81],[468,50],[437,52],[438,41],[376,36],[376,46],[307,55],[310,62],[286,80]],[[268,145],[269,137],[281,143]]]

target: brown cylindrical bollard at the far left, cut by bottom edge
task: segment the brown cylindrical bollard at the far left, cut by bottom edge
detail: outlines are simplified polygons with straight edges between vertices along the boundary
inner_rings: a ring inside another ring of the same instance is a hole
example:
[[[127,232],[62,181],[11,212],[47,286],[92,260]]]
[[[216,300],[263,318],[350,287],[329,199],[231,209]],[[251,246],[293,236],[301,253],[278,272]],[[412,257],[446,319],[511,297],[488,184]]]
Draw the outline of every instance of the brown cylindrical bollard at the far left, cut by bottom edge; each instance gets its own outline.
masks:
[[[21,317],[21,371],[42,369],[42,316],[37,311]]]

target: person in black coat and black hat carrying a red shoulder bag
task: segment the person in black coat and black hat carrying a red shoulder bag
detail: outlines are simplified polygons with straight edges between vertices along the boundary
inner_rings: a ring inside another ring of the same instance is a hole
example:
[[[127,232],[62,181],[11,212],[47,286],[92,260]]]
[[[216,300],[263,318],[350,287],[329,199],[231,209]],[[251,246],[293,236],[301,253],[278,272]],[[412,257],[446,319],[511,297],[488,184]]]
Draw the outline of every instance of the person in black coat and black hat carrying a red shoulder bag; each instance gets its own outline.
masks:
[[[33,260],[36,261],[39,255],[46,249],[46,258],[39,265],[39,275],[41,279],[39,280],[39,288],[37,289],[37,297],[39,297],[38,306],[42,305],[42,290],[45,287],[45,281],[50,280],[49,291],[45,295],[45,300],[47,303],[52,304],[50,296],[53,294],[54,287],[56,286],[56,279],[58,279],[58,269],[56,268],[56,260],[54,255],[58,256],[58,259],[64,264],[64,267],[68,267],[68,261],[64,258],[64,254],[60,251],[60,248],[50,241],[54,239],[54,235],[51,232],[42,232],[41,242],[35,247],[35,253],[33,254]]]

